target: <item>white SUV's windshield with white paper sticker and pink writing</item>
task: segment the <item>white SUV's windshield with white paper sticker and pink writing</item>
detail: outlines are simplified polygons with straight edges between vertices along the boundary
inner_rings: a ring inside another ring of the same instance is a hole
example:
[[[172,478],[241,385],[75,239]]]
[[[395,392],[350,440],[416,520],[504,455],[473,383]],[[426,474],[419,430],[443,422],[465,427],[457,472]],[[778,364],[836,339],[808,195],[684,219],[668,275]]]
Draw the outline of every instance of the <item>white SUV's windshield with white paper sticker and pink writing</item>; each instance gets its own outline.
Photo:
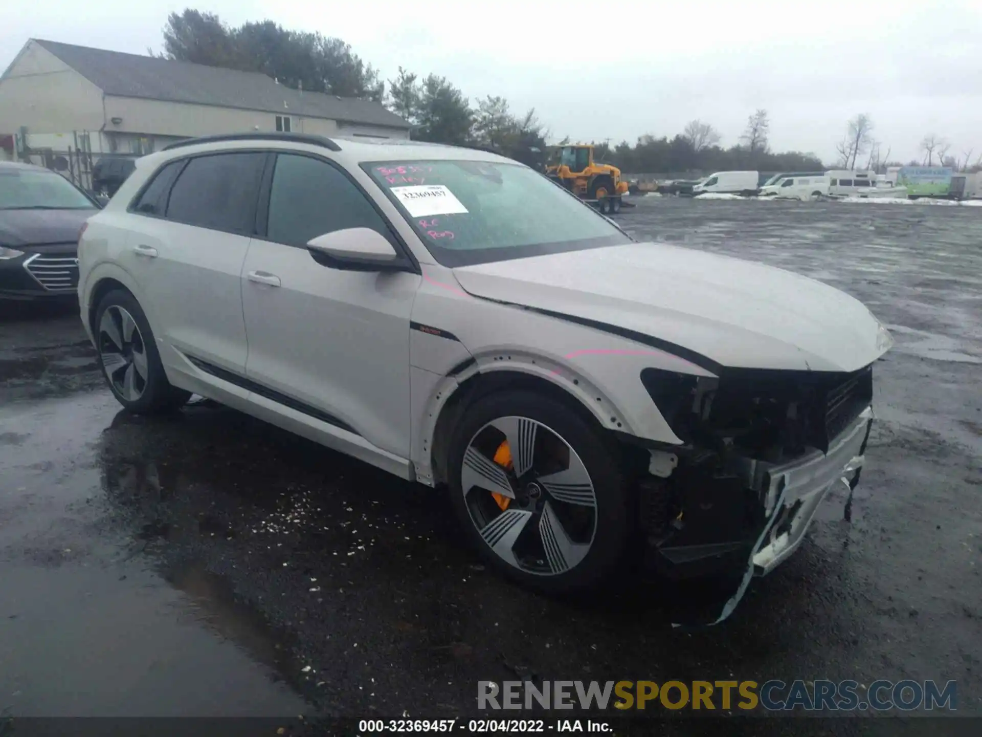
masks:
[[[630,243],[541,174],[489,161],[364,164],[445,266]]]

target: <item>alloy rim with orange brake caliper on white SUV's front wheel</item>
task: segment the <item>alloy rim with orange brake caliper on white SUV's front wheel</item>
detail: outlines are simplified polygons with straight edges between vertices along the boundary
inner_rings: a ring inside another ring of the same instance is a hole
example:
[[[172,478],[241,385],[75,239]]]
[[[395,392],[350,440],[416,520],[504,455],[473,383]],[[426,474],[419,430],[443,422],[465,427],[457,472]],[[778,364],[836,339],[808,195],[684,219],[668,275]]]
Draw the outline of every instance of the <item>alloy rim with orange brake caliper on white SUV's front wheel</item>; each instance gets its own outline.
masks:
[[[557,576],[590,550],[593,482],[573,446],[542,423],[502,417],[481,427],[464,451],[461,487],[481,539],[521,571]]]

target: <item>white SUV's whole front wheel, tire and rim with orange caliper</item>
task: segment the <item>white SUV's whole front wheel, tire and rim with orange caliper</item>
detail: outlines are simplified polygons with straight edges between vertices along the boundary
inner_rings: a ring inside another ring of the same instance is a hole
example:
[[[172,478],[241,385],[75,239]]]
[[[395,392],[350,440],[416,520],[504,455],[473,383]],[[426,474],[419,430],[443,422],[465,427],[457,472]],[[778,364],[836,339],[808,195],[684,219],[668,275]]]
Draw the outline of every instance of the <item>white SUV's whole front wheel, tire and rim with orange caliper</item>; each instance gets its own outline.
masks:
[[[527,392],[479,401],[459,430],[452,499],[489,564],[548,591],[588,588],[610,574],[627,539],[627,504],[605,438]]]

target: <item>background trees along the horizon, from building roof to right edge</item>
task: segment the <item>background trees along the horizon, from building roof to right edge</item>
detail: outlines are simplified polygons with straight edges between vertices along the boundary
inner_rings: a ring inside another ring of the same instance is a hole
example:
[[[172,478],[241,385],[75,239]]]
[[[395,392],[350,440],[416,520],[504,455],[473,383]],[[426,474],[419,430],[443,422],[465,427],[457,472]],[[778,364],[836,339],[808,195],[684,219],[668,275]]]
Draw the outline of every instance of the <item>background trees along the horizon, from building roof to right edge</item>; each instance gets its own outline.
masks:
[[[382,102],[411,124],[411,137],[419,141],[475,145],[488,148],[523,163],[541,167],[546,157],[549,132],[535,110],[515,113],[508,100],[488,95],[471,104],[470,99],[445,77],[425,77],[399,68],[392,80],[383,80],[378,70],[362,60],[340,38],[318,32],[290,30],[272,21],[249,22],[238,28],[223,23],[213,13],[186,9],[171,13],[164,27],[163,58],[260,72],[281,85],[295,89],[360,97]],[[868,115],[857,115],[846,126],[837,145],[838,165],[869,169],[900,165],[890,161],[873,136]],[[613,163],[626,173],[710,172],[737,169],[758,171],[821,171],[826,167],[810,152],[777,152],[770,148],[770,119],[767,111],[756,110],[738,142],[720,145],[722,137],[710,124],[689,122],[681,133],[655,137],[644,135],[634,143],[595,142],[595,158]],[[569,142],[569,139],[563,142]],[[924,160],[909,165],[939,165],[970,168],[971,151],[961,158],[949,155],[951,144],[936,135],[921,142]],[[982,155],[971,170],[982,169]]]

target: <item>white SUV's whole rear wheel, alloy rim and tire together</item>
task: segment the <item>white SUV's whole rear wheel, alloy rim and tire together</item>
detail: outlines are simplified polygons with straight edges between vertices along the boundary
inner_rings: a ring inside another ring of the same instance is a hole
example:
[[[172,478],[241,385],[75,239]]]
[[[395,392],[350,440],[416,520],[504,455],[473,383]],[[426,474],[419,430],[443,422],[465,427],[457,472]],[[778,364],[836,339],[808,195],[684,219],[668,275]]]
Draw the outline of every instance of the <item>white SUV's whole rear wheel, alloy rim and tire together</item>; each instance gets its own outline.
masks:
[[[139,303],[114,290],[99,303],[93,325],[99,365],[106,383],[126,409],[139,414],[172,410],[191,392],[171,386],[160,363],[153,333]]]

